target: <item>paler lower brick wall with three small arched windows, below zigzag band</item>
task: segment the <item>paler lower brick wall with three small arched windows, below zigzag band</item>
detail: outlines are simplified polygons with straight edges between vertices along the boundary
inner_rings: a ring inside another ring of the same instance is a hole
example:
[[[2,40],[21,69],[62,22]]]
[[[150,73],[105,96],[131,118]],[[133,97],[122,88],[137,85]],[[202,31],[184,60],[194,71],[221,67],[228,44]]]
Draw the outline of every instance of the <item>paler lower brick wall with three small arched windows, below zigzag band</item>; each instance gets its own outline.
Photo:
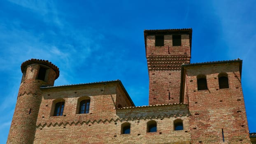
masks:
[[[156,110],[159,113],[156,113]],[[37,128],[34,143],[190,143],[189,114],[184,104],[116,109],[116,114],[107,120],[104,119],[107,117],[101,114],[98,118],[92,118],[93,114],[88,115],[79,122],[67,123],[62,119],[63,123],[60,124],[40,126]],[[183,120],[184,130],[174,130],[173,123],[177,118]],[[91,121],[88,121],[89,119]],[[157,122],[157,132],[147,132],[147,122],[151,120]],[[126,122],[130,123],[130,134],[121,134],[121,125]]]

